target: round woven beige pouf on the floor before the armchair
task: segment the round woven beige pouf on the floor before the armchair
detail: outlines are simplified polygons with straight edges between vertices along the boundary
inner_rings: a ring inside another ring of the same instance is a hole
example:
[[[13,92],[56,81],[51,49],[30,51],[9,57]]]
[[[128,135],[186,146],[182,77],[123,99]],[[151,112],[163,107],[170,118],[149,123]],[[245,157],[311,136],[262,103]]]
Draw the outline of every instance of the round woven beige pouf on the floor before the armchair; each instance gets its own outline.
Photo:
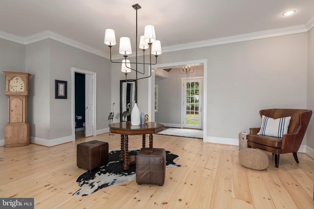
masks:
[[[268,157],[260,149],[245,148],[239,151],[239,163],[254,170],[263,170],[268,167]]]

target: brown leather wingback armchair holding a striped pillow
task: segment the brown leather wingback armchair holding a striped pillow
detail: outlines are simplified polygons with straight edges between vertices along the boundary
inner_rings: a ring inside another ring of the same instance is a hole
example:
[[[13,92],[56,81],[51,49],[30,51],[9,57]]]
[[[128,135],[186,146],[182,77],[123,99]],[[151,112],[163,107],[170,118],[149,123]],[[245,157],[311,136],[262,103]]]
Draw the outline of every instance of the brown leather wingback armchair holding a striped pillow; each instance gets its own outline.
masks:
[[[308,128],[312,110],[268,109],[261,110],[260,115],[274,119],[291,116],[288,134],[284,134],[283,138],[257,135],[261,127],[250,128],[250,134],[246,136],[248,147],[255,147],[273,153],[277,168],[279,165],[279,156],[284,153],[292,152],[295,162],[299,163],[297,151]]]

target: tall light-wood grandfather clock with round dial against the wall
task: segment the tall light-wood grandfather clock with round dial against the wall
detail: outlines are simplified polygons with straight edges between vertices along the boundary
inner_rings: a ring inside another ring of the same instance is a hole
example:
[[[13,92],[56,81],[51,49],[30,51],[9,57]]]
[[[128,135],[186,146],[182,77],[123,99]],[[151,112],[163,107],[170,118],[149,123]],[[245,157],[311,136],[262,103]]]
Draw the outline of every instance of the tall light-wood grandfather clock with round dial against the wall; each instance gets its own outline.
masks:
[[[27,122],[27,97],[29,76],[27,72],[5,74],[5,95],[8,96],[8,124],[4,126],[4,147],[26,146],[29,142]]]

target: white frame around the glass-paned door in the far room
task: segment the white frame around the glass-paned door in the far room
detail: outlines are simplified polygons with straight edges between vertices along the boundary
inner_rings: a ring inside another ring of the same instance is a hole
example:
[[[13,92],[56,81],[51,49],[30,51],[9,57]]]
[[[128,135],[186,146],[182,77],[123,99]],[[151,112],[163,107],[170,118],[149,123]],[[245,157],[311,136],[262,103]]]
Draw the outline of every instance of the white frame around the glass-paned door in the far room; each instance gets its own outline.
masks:
[[[185,89],[185,86],[184,86],[184,82],[186,80],[195,80],[195,79],[199,79],[199,80],[202,80],[201,81],[201,86],[200,86],[200,89],[201,89],[201,107],[199,108],[199,117],[201,117],[201,129],[203,130],[203,77],[202,76],[199,76],[199,77],[184,77],[182,78],[182,90],[181,90],[181,98],[182,98],[182,106],[181,106],[181,128],[184,128],[184,121],[185,121],[185,114],[184,112],[186,112],[186,108],[184,109],[184,104],[186,105],[186,97],[184,97],[185,93],[184,93],[184,89]],[[192,128],[192,127],[189,127],[189,128]]]

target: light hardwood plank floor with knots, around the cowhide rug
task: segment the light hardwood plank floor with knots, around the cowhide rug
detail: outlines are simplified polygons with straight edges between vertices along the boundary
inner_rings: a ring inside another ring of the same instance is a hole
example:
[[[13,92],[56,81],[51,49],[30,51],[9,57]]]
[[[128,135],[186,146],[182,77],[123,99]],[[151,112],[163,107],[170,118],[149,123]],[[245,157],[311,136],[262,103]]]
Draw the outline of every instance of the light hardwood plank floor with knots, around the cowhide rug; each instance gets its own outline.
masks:
[[[292,154],[283,154],[275,168],[267,153],[268,168],[257,171],[238,163],[238,146],[164,135],[154,135],[154,147],[179,155],[175,162],[182,165],[166,168],[164,186],[138,186],[134,180],[73,197],[85,172],[76,166],[76,146],[93,139],[120,149],[120,135],[108,133],[54,147],[0,147],[0,197],[33,197],[35,209],[314,208],[314,160],[306,154],[298,154],[299,164]],[[140,136],[129,136],[129,149],[141,143]]]

